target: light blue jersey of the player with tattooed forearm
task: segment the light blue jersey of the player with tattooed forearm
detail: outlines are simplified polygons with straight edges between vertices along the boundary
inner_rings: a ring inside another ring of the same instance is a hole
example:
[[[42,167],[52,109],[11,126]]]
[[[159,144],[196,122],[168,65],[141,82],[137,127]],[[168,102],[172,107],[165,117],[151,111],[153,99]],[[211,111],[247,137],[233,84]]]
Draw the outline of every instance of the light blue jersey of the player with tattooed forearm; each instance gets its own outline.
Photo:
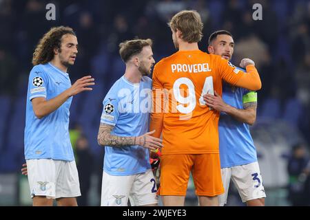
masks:
[[[122,76],[103,100],[101,123],[114,126],[112,135],[136,137],[149,129],[152,79],[133,84]],[[110,175],[134,175],[150,169],[149,150],[139,145],[105,146],[103,169]]]

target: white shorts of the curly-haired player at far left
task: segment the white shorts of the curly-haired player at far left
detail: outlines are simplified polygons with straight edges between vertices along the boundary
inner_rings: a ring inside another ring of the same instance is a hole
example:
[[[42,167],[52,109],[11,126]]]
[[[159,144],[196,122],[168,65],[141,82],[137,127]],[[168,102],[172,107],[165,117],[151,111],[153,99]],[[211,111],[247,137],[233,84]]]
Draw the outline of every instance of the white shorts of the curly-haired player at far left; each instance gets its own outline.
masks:
[[[27,159],[26,162],[31,197],[58,199],[81,195],[75,161]]]

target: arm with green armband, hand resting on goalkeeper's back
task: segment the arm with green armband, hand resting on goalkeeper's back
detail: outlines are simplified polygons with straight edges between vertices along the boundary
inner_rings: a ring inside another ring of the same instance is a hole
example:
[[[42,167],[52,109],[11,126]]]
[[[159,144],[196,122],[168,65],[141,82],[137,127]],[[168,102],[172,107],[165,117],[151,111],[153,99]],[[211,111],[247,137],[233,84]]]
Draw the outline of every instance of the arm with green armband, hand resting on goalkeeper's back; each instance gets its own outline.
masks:
[[[257,108],[257,98],[254,91],[249,92],[244,96],[243,109],[236,109],[231,105],[225,103],[223,99],[214,91],[214,96],[211,94],[205,94],[203,100],[209,107],[212,107],[216,111],[223,111],[231,117],[235,118],[239,122],[247,123],[253,125],[256,121],[256,108]]]

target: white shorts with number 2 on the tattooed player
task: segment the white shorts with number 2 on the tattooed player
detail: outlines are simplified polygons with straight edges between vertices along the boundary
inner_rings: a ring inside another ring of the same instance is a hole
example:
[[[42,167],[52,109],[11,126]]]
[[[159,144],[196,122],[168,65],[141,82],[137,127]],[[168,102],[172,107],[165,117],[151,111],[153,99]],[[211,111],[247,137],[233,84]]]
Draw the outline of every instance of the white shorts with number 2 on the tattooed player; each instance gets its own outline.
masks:
[[[112,176],[103,171],[101,206],[145,206],[158,203],[152,170],[127,176]]]

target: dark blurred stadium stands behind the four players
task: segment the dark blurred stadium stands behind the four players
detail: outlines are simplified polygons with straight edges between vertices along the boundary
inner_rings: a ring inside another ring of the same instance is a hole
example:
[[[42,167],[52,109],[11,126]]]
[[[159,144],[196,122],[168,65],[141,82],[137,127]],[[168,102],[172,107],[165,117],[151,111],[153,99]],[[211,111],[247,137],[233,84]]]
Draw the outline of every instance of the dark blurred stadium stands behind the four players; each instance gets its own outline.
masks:
[[[48,3],[56,5],[55,21],[45,19]],[[254,3],[262,5],[262,21],[252,19]],[[211,32],[225,29],[234,35],[232,63],[238,65],[244,57],[256,62],[262,89],[258,92],[258,118],[251,133],[267,192],[266,205],[291,206],[288,186],[292,183],[302,188],[304,204],[309,205],[309,181],[300,178],[300,172],[288,172],[294,145],[304,143],[306,151],[301,155],[309,160],[309,1],[0,0],[0,206],[29,206],[32,202],[28,179],[20,169],[25,162],[23,130],[28,74],[34,47],[41,36],[56,25],[74,28],[79,56],[69,69],[70,78],[74,82],[90,73],[96,79],[92,92],[73,99],[70,133],[83,194],[79,204],[99,206],[104,152],[96,135],[102,100],[124,72],[118,43],[134,36],[151,38],[155,60],[169,56],[175,49],[166,23],[172,14],[183,9],[197,10],[202,16],[205,28],[200,50],[207,50]],[[197,205],[192,181],[186,203]],[[228,205],[242,206],[234,188]]]

